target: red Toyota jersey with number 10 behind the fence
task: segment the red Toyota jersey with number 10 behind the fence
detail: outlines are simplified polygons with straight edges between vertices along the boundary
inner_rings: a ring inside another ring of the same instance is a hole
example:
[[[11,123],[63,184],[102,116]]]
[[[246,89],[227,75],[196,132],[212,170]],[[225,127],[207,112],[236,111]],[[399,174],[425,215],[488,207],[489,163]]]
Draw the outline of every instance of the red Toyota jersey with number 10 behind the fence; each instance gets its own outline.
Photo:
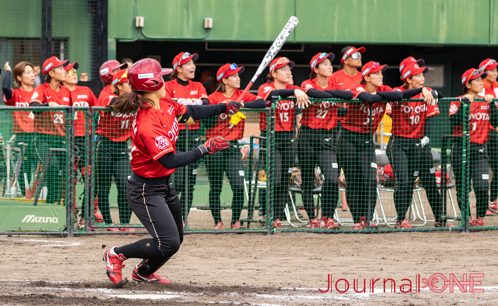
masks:
[[[429,87],[427,89],[432,90]],[[394,90],[405,91],[402,86],[394,87]],[[424,95],[419,93],[412,97],[412,99],[423,99]],[[391,103],[389,103],[391,104]],[[425,120],[439,114],[437,105],[427,105],[425,102],[408,102],[402,101],[397,105],[390,105],[390,109],[385,112],[392,114],[392,135],[406,137],[406,138],[421,138],[424,137]]]

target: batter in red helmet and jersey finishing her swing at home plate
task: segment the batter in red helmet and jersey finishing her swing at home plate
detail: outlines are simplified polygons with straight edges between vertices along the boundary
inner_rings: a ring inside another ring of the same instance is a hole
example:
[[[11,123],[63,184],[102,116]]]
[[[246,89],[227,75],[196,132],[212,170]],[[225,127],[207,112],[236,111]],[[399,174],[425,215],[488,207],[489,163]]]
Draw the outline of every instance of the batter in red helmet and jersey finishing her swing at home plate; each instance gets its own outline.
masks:
[[[171,174],[177,167],[230,146],[221,137],[210,138],[197,148],[176,153],[178,123],[195,123],[195,120],[238,111],[242,106],[236,101],[216,105],[182,105],[164,98],[166,93],[162,76],[170,72],[171,69],[161,69],[156,60],[139,60],[128,70],[128,83],[132,91],[120,95],[113,104],[113,108],[122,114],[136,110],[131,134],[133,174],[128,180],[126,193],[131,209],[152,235],[152,238],[104,251],[107,276],[116,284],[123,280],[123,262],[128,258],[143,258],[133,269],[133,280],[170,283],[156,271],[178,251],[183,241],[182,210]]]

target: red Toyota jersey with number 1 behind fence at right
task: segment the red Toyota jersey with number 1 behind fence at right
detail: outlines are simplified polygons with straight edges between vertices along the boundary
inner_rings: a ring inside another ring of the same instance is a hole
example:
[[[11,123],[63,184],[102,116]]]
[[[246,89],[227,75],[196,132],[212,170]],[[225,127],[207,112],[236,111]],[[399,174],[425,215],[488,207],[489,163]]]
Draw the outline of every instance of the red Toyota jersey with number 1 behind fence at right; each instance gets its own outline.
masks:
[[[459,97],[463,97],[459,96]],[[457,97],[457,98],[459,98]],[[450,116],[458,111],[462,101],[451,101]],[[462,136],[463,123],[453,127],[453,135]],[[470,142],[484,144],[490,134],[490,104],[474,101],[470,104]]]

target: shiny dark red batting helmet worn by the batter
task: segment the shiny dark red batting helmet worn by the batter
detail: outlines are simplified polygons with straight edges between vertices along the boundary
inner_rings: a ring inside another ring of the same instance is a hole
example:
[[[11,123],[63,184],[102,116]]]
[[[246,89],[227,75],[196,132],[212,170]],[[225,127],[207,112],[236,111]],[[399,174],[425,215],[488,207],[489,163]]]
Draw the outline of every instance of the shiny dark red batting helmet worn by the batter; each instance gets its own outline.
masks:
[[[173,69],[161,68],[153,59],[141,59],[128,69],[128,84],[131,90],[156,91],[164,81],[159,76],[170,74]],[[154,81],[157,83],[154,84]]]

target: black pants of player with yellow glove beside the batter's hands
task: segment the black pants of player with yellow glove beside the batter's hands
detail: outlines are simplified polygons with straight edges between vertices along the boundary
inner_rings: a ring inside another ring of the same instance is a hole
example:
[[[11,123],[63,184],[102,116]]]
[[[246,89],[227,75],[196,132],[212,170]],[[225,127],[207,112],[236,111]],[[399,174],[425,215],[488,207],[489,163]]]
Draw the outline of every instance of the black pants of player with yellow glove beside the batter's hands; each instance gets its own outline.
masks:
[[[241,217],[244,208],[244,166],[242,154],[237,141],[231,141],[228,150],[209,154],[205,157],[209,178],[209,207],[215,224],[221,221],[220,194],[223,186],[223,173],[227,174],[232,188],[232,223],[234,225]]]

